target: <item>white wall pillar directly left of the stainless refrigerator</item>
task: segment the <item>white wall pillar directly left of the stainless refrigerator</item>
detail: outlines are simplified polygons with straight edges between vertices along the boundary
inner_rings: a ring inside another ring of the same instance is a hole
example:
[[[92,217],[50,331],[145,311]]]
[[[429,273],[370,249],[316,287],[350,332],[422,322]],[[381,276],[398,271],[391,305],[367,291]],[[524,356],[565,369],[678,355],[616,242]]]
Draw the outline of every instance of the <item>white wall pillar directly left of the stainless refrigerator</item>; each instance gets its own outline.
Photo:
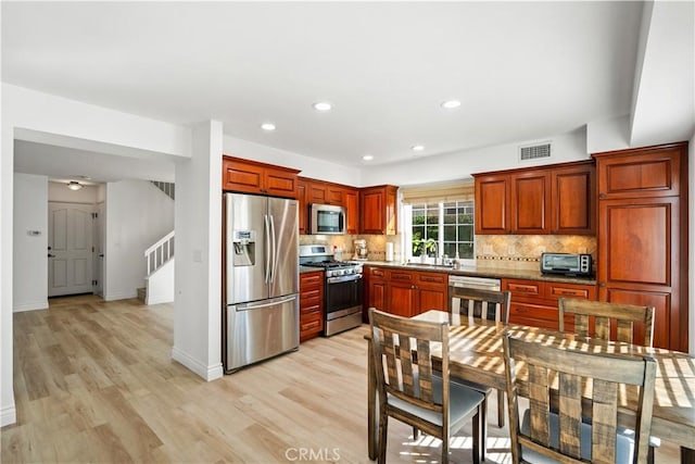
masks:
[[[193,129],[189,161],[176,164],[173,358],[204,379],[222,368],[222,123]]]

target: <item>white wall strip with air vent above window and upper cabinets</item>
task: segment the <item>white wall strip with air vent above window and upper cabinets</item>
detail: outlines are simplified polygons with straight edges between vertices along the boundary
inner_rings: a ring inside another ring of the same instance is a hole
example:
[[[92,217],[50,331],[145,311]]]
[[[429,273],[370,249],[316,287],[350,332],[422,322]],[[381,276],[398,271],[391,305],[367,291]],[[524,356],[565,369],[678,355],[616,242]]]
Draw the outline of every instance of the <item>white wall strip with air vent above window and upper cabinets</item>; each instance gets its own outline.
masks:
[[[519,147],[551,141],[551,158],[519,161]],[[454,180],[471,174],[496,170],[509,170],[540,164],[586,160],[585,130],[544,137],[538,140],[466,150],[439,156],[422,156],[407,163],[375,165],[362,173],[365,186],[393,184],[397,186]]]

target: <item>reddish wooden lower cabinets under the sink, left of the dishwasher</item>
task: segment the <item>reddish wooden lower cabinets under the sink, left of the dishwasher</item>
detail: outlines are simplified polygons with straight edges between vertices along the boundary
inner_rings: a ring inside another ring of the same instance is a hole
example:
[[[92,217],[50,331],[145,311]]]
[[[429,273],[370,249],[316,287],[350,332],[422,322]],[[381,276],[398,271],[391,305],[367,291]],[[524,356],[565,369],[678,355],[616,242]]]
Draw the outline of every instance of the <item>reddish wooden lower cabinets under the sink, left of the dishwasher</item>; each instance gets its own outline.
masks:
[[[447,274],[367,266],[365,277],[365,321],[369,308],[404,317],[447,309]]]

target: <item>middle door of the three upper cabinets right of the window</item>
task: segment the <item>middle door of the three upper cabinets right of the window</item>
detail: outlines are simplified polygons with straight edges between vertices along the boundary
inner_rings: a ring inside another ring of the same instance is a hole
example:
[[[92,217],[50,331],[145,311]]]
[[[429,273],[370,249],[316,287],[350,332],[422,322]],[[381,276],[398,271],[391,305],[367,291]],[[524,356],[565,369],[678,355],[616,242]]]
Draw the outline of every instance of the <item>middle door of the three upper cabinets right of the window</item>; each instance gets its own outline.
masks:
[[[513,234],[549,233],[549,179],[547,170],[525,171],[510,176]]]

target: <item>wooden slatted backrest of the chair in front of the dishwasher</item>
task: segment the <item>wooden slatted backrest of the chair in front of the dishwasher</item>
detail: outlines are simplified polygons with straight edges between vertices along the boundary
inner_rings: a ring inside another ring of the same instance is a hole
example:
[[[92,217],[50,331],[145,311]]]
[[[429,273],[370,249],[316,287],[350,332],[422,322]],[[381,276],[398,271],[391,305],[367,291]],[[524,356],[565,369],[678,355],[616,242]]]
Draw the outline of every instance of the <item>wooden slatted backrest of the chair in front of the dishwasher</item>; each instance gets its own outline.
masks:
[[[448,286],[448,312],[507,324],[509,322],[509,291],[479,290]]]

